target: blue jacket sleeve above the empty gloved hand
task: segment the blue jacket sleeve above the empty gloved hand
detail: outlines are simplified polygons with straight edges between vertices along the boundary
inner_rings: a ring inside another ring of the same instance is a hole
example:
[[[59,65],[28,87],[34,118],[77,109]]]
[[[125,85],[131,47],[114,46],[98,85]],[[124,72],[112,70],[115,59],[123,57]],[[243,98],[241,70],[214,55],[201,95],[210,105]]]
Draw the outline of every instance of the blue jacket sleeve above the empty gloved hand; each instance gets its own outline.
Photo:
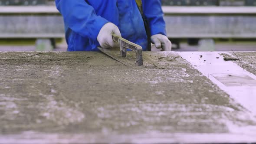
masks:
[[[166,35],[161,0],[142,0],[142,8],[149,22],[151,36],[159,33]]]

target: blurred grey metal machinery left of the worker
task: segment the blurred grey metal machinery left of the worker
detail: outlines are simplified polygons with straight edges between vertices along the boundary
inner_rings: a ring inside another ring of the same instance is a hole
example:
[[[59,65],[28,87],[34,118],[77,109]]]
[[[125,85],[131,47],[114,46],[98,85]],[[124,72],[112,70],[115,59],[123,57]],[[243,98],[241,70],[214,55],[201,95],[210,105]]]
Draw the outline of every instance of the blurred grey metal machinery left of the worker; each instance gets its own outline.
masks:
[[[36,50],[41,51],[52,50],[55,39],[63,37],[63,19],[54,0],[0,0],[0,38],[37,39]]]

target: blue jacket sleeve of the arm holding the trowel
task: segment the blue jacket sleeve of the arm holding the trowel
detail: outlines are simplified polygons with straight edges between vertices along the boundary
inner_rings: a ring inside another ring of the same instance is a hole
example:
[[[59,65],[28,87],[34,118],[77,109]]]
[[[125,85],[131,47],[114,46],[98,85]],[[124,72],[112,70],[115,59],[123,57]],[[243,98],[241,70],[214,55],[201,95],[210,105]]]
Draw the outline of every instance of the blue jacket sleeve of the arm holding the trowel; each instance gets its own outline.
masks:
[[[64,18],[65,26],[81,36],[96,41],[100,29],[108,23],[106,19],[97,16],[94,8],[85,0],[55,0],[55,2]]]

